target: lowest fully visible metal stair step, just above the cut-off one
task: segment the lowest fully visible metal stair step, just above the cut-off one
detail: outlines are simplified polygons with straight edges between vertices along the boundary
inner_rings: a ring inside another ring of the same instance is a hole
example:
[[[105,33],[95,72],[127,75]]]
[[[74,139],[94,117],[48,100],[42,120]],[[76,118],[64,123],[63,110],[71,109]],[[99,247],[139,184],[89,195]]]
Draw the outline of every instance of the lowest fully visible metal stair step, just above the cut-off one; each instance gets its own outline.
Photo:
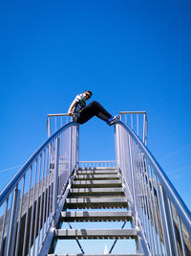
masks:
[[[115,229],[55,229],[57,239],[136,239],[138,231],[134,228]]]

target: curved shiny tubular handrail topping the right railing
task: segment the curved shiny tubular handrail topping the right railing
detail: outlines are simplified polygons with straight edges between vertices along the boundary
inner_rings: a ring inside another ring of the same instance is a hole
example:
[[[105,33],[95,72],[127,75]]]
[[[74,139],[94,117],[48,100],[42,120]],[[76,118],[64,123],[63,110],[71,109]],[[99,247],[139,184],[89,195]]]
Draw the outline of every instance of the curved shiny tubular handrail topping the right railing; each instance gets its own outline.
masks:
[[[116,124],[122,126],[123,128],[125,128],[128,131],[128,133],[132,136],[132,138],[138,144],[138,147],[141,149],[141,151],[143,151],[145,153],[145,155],[148,157],[153,168],[156,171],[156,175],[159,177],[159,181],[160,181],[161,185],[165,188],[167,196],[169,198],[171,198],[171,200],[175,204],[175,206],[180,214],[181,220],[184,222],[184,224],[188,228],[189,232],[191,233],[191,213],[190,213],[189,209],[187,208],[187,206],[185,205],[185,203],[183,202],[183,200],[180,198],[180,195],[176,191],[175,187],[173,186],[173,184],[171,183],[171,181],[169,180],[167,175],[165,175],[165,173],[159,166],[158,161],[155,159],[155,157],[153,156],[151,151],[149,151],[148,148],[141,142],[141,140],[138,138],[136,133],[131,128],[129,128],[128,126],[123,124],[121,121],[117,121]]]

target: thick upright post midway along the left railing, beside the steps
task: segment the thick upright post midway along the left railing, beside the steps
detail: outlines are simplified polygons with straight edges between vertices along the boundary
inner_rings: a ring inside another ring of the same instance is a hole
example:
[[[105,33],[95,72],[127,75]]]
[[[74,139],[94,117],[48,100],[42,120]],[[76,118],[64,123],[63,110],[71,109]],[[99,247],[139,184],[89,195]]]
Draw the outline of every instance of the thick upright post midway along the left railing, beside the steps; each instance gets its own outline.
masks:
[[[58,193],[58,169],[59,169],[59,138],[55,138],[55,164],[54,164],[54,177],[53,177],[53,218],[56,215],[57,209],[57,193]],[[55,222],[53,220],[53,226]]]

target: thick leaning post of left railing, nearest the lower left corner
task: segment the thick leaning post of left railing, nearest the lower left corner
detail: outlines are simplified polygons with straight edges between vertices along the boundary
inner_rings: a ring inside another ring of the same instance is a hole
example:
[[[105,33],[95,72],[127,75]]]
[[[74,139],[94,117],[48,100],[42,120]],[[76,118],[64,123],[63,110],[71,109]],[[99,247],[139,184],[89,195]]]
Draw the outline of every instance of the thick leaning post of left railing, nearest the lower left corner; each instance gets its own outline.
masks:
[[[20,190],[16,188],[12,195],[11,214],[10,214],[10,220],[8,224],[8,235],[7,235],[4,256],[14,255],[13,250],[14,250],[14,244],[15,244],[19,200],[20,200]]]

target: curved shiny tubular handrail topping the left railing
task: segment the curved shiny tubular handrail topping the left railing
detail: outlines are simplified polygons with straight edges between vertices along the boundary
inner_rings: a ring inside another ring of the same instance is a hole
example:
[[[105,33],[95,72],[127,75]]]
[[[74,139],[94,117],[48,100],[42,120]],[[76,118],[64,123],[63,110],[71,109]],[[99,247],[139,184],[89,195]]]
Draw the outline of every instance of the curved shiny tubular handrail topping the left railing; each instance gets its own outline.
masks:
[[[4,202],[6,198],[11,193],[12,188],[15,186],[16,183],[19,182],[20,178],[25,174],[25,172],[28,170],[28,168],[32,165],[32,162],[35,160],[35,158],[38,156],[40,151],[43,151],[43,149],[55,138],[60,132],[64,131],[66,128],[70,128],[72,126],[78,126],[78,124],[75,124],[73,122],[68,123],[62,128],[59,128],[56,130],[51,137],[49,137],[29,158],[29,160],[18,170],[18,172],[11,178],[11,181],[5,186],[5,188],[0,193],[0,206]]]

